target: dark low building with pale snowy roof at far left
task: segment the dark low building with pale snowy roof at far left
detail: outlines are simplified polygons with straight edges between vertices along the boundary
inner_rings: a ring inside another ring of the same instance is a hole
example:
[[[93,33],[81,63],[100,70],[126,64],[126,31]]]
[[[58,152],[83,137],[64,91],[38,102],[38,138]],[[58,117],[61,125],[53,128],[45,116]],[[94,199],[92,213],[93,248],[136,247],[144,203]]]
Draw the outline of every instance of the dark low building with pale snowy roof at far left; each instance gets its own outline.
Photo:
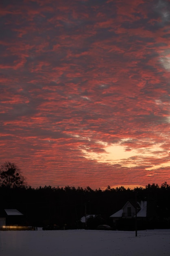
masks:
[[[17,209],[0,210],[0,228],[13,225],[21,225],[23,214]]]

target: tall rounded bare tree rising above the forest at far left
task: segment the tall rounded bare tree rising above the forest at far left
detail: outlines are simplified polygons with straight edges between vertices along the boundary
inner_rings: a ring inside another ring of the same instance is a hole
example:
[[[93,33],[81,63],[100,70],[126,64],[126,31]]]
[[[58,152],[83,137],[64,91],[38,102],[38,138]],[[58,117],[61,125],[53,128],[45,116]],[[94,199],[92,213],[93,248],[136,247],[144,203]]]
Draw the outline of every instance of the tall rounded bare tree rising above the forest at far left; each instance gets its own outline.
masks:
[[[0,166],[0,186],[14,189],[25,185],[25,178],[21,175],[20,169],[16,164],[5,162]]]

